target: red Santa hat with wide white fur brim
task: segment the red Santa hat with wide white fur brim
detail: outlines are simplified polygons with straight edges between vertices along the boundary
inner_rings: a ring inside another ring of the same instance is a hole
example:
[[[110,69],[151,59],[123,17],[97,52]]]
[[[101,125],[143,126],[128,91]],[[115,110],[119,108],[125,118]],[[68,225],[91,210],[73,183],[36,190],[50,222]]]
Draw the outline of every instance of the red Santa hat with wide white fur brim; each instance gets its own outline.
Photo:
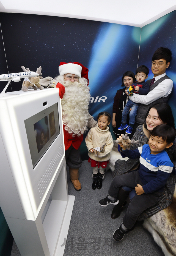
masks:
[[[59,65],[59,74],[60,75],[65,75],[65,74],[70,73],[73,75],[77,75],[79,78],[84,77],[89,82],[88,72],[89,72],[89,69],[87,69],[87,67],[84,67],[79,62],[68,62],[68,63],[60,62],[60,65]]]

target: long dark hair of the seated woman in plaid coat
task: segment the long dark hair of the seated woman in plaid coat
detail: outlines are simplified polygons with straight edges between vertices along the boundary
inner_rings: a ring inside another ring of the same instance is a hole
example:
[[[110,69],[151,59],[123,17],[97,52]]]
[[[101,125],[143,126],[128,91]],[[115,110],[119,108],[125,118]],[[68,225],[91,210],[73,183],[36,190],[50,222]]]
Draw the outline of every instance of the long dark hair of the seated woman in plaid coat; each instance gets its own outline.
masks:
[[[155,108],[156,111],[158,112],[158,117],[161,121],[163,121],[164,124],[167,124],[171,126],[172,128],[175,129],[175,124],[174,124],[174,117],[172,114],[172,109],[167,103],[154,103],[149,110],[147,111],[147,114],[145,116],[145,122],[144,122],[144,127],[147,129],[147,124],[146,124],[146,118],[149,114],[149,111],[151,108]]]

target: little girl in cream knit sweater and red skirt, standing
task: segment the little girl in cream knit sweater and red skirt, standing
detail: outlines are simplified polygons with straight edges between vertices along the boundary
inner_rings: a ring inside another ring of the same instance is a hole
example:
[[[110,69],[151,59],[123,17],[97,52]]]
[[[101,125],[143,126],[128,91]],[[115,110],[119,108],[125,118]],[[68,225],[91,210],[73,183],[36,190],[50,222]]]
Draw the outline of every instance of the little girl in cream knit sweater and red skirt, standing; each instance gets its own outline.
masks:
[[[91,128],[86,137],[86,146],[89,151],[88,162],[93,167],[92,189],[94,190],[102,187],[105,168],[113,147],[113,139],[108,127],[111,122],[111,115],[108,112],[101,112],[97,119],[97,126]],[[100,168],[99,171],[98,168]]]

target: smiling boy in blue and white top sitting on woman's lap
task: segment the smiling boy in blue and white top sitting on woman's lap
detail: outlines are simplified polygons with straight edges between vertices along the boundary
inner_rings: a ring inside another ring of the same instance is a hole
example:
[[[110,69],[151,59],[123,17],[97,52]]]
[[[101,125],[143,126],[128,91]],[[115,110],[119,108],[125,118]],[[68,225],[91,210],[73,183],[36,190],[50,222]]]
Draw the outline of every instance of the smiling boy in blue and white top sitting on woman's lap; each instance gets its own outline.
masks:
[[[166,124],[161,124],[151,131],[149,144],[134,150],[127,150],[126,147],[121,146],[128,158],[139,158],[140,166],[138,171],[116,176],[109,187],[109,195],[99,202],[101,206],[117,205],[120,187],[135,188],[137,195],[132,198],[123,217],[123,223],[113,234],[115,241],[122,240],[124,234],[133,228],[138,216],[160,200],[174,166],[164,149],[171,147],[174,139],[175,130]]]

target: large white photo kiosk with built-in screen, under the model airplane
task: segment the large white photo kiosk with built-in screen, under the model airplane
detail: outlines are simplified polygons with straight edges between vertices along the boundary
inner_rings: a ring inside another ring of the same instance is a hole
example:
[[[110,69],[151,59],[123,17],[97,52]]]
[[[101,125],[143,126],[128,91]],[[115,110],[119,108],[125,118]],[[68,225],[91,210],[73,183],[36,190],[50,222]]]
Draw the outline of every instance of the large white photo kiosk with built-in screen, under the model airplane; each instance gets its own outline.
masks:
[[[4,91],[0,151],[0,206],[21,255],[63,255],[75,197],[58,88]]]

